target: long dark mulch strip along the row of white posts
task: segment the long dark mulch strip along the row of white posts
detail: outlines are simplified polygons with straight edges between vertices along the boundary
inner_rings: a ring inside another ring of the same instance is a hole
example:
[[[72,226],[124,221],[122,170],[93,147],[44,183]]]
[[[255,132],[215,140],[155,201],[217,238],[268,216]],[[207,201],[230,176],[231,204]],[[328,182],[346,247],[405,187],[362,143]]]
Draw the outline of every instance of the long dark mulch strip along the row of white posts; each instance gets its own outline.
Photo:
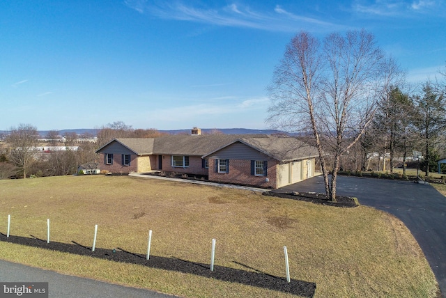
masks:
[[[6,235],[0,233],[0,241],[38,247],[49,251],[62,251],[80,256],[90,256],[91,258],[102,258],[112,262],[126,262],[151,268],[195,274],[209,279],[229,281],[231,283],[242,283],[244,285],[252,285],[259,288],[268,288],[270,290],[288,292],[302,297],[313,297],[314,292],[316,291],[316,283],[298,281],[295,279],[291,279],[291,282],[287,283],[285,277],[273,276],[236,261],[233,262],[249,269],[249,271],[218,265],[214,266],[214,271],[210,271],[210,265],[208,264],[181,260],[174,256],[171,258],[150,256],[149,260],[146,260],[146,255],[132,253],[131,251],[126,251],[119,247],[115,249],[95,248],[95,251],[92,251],[89,246],[79,244],[75,241],[72,241],[72,244],[61,242],[47,243],[46,240],[38,239],[33,235],[30,235],[30,237],[13,235],[6,237]]]

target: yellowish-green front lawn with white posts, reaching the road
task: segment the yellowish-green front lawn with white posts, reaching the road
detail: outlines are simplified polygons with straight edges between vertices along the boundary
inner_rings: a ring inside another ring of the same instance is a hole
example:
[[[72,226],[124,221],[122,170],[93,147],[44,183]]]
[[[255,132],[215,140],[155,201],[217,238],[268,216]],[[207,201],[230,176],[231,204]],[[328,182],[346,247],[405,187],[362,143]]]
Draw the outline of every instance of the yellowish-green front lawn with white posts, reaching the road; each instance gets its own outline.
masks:
[[[0,180],[0,233],[122,248],[144,255],[316,283],[315,297],[437,297],[420,246],[399,219],[370,207],[329,207],[253,191],[128,176]],[[0,242],[0,258],[183,297],[291,297],[196,274]]]

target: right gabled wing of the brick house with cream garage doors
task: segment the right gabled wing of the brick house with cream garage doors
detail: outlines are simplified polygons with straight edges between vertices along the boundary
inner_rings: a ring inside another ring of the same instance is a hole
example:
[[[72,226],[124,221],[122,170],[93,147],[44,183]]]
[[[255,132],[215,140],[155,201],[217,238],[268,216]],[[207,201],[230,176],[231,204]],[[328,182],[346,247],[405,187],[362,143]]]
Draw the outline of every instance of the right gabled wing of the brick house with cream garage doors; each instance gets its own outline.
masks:
[[[291,185],[314,176],[314,160],[317,150],[294,138],[247,138],[239,139],[215,152],[204,155],[217,165],[226,161],[225,173],[209,171],[209,180],[270,187],[273,189]],[[249,161],[268,162],[267,175],[254,175]],[[211,164],[211,163],[210,163]]]

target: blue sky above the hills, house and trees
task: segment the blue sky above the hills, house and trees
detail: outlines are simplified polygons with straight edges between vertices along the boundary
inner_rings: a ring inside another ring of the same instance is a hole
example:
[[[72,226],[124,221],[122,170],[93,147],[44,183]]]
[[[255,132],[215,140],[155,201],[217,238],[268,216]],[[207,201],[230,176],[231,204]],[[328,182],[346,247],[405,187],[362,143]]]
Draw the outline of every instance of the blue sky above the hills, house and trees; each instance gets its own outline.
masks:
[[[413,83],[445,66],[444,0],[1,1],[0,130],[265,129],[295,33],[362,28]]]

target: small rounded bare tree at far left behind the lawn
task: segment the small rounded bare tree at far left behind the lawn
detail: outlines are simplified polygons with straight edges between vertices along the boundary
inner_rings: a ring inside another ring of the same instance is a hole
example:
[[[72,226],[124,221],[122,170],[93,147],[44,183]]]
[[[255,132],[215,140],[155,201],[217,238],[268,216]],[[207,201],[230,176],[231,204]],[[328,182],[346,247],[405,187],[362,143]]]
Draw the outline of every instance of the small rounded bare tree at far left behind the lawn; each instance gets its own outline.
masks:
[[[26,170],[33,161],[33,155],[38,146],[37,128],[30,124],[20,124],[17,128],[12,127],[6,141],[10,146],[9,159],[23,173],[26,178]]]

